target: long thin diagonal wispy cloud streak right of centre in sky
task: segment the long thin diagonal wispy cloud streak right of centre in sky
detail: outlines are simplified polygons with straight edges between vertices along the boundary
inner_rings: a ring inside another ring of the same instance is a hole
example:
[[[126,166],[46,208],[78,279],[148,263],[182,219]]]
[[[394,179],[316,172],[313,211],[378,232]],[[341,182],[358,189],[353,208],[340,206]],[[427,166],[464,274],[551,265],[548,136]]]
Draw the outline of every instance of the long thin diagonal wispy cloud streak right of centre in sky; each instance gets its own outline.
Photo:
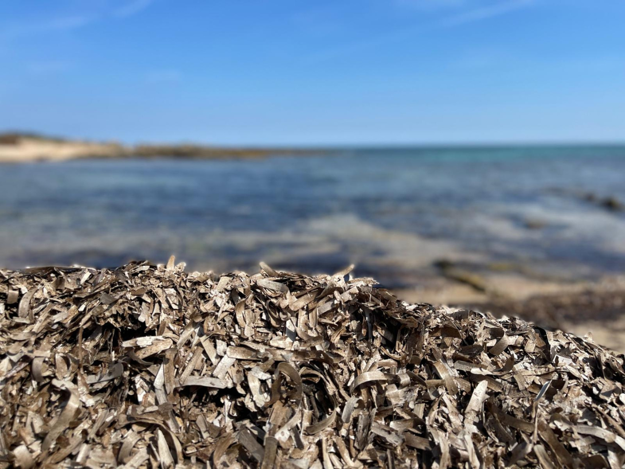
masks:
[[[437,0],[444,1],[444,0]],[[451,16],[447,16],[436,23],[422,24],[414,26],[412,28],[405,28],[398,31],[394,31],[390,34],[383,34],[381,36],[374,36],[373,38],[365,39],[364,41],[357,41],[351,44],[345,44],[337,48],[327,49],[320,51],[317,54],[309,56],[304,59],[303,63],[313,64],[323,62],[329,59],[346,56],[352,53],[357,53],[369,48],[383,46],[386,44],[397,43],[404,39],[411,38],[415,34],[428,33],[436,31],[441,28],[454,28],[462,26],[464,24],[475,23],[477,21],[484,21],[486,19],[495,18],[513,11],[518,11],[522,8],[527,8],[535,3],[535,0],[509,0],[498,3],[491,6],[482,6],[480,8],[469,9],[462,11]]]

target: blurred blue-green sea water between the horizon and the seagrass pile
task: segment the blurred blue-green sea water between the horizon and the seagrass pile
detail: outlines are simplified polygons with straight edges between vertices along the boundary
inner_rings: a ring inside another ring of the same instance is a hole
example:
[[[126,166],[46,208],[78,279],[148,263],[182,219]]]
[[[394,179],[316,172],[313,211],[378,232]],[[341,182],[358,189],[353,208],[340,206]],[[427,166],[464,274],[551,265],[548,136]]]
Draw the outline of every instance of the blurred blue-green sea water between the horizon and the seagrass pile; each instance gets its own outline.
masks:
[[[625,270],[625,147],[386,148],[261,160],[0,166],[0,266],[306,272],[397,286],[438,260],[553,275]],[[527,224],[541,225],[528,228]]]

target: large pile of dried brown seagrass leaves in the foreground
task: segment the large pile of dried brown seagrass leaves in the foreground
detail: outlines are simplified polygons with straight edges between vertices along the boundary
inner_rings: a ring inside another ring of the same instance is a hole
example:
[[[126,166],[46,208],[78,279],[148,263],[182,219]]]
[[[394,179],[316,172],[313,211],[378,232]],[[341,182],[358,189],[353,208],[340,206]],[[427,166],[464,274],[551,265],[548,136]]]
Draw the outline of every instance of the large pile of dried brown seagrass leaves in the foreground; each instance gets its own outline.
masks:
[[[0,466],[625,463],[623,356],[370,279],[0,271]]]

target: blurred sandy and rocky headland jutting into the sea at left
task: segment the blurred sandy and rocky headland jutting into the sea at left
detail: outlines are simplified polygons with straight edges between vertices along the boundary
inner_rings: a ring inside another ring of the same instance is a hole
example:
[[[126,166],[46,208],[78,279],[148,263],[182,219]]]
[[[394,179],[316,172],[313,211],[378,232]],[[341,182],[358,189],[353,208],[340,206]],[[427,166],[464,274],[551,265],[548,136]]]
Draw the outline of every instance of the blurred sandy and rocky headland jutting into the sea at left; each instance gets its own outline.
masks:
[[[221,147],[203,144],[137,144],[96,142],[44,136],[37,133],[0,133],[0,163],[65,161],[84,158],[266,158],[280,154],[322,153],[319,149]]]

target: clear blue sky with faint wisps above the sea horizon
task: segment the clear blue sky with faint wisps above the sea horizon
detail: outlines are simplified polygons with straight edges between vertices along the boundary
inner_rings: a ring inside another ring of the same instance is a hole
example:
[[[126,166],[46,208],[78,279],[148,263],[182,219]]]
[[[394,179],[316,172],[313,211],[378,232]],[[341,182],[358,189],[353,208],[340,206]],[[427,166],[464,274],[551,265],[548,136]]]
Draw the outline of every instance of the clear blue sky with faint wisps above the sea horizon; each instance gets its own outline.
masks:
[[[0,129],[625,141],[620,0],[3,0]]]

